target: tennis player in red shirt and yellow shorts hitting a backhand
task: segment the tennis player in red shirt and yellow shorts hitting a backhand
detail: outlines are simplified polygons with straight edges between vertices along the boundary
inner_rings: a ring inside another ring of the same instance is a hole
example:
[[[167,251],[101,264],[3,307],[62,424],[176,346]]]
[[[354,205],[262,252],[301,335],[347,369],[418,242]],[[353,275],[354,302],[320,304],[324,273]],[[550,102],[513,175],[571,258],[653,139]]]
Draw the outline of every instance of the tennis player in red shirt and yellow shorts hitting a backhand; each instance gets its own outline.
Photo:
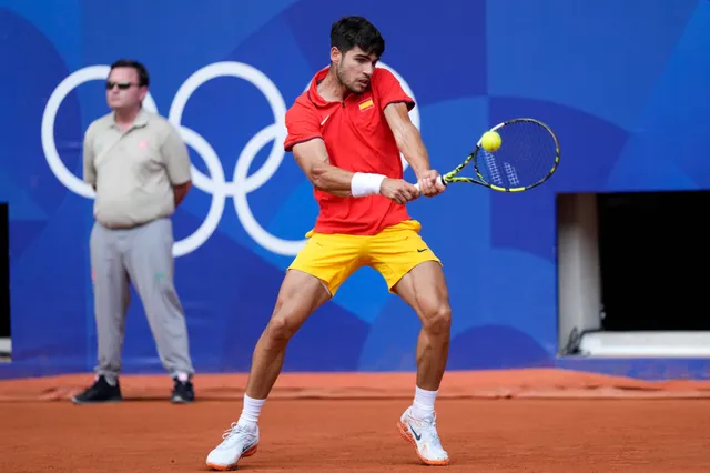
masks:
[[[239,422],[206,459],[215,470],[236,466],[256,452],[257,421],[284,363],[288,340],[335,295],[358,268],[385,279],[422,321],[414,402],[399,433],[429,465],[449,462],[436,430],[434,402],[446,369],[452,310],[439,259],[419,235],[405,204],[444,191],[429,169],[427,151],[408,112],[415,103],[386,69],[375,68],[385,50],[379,31],[362,17],[331,30],[331,64],[315,74],[286,113],[286,151],[314,187],[320,213],[307,242],[288,268],[252,359]],[[402,152],[420,192],[403,180]]]

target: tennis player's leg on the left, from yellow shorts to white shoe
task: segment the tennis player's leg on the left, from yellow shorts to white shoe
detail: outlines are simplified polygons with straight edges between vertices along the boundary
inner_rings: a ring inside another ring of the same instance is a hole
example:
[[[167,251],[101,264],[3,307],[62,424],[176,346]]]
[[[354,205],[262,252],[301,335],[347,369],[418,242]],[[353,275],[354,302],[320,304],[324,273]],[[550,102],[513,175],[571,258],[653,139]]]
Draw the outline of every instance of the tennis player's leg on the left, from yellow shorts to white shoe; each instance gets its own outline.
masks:
[[[207,466],[230,470],[241,457],[256,452],[258,416],[283,368],[288,341],[359,266],[359,252],[358,243],[347,236],[317,234],[298,253],[254,348],[242,414],[227,429],[224,441],[207,455]]]

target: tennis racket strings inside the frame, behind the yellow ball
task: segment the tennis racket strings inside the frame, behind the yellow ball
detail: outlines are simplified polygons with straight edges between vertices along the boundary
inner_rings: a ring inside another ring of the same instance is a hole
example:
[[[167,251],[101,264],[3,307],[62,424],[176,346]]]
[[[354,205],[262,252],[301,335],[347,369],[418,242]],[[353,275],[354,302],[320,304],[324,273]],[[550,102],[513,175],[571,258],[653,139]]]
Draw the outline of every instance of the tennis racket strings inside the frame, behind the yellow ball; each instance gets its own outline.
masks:
[[[501,145],[479,151],[476,168],[484,181],[500,188],[527,188],[542,181],[554,169],[557,143],[547,129],[519,121],[497,130]]]

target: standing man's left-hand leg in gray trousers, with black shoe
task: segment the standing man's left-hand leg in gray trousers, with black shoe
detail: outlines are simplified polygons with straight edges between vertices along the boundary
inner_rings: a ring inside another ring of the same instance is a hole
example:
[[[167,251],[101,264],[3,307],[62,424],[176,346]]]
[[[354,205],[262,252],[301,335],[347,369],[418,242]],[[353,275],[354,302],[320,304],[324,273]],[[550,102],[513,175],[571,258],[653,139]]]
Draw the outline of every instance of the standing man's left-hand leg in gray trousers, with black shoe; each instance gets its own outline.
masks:
[[[120,401],[121,351],[131,292],[120,249],[121,233],[94,224],[89,240],[94,318],[97,323],[97,380],[72,397],[75,404]]]

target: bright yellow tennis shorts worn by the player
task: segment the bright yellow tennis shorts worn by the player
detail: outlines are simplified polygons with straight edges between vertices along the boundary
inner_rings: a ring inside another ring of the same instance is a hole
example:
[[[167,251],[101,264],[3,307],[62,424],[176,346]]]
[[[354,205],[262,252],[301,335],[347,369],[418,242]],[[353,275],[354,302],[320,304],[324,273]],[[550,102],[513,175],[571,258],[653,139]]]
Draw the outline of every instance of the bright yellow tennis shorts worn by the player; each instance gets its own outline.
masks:
[[[417,264],[424,261],[442,264],[419,235],[420,230],[419,222],[407,220],[387,227],[376,235],[310,231],[305,246],[288,269],[320,279],[331,295],[335,295],[355,271],[371,266],[383,275],[392,292],[392,288]]]

